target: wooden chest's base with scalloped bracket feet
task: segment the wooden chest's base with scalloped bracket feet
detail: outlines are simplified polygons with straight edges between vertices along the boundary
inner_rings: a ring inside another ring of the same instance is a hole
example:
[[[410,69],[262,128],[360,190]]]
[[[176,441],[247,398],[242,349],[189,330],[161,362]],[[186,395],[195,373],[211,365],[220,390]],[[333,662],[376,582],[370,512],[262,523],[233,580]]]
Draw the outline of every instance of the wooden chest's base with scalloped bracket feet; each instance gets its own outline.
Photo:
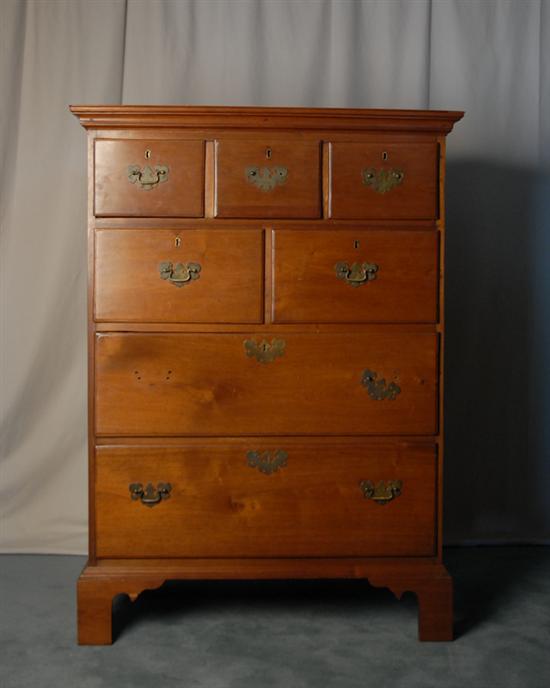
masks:
[[[418,599],[418,638],[453,639],[453,584],[434,559],[148,559],[100,560],[86,566],[78,580],[78,642],[109,645],[112,602],[125,594],[134,601],[144,590],[167,580],[365,579],[387,587],[397,598]]]

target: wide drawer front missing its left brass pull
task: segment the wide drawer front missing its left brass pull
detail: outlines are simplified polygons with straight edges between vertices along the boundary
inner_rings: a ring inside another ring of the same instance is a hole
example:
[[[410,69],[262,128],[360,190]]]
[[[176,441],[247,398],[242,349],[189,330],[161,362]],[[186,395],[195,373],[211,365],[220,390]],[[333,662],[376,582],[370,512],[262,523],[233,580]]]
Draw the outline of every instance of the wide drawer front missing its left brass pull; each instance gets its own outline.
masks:
[[[98,435],[431,434],[437,335],[102,334]]]

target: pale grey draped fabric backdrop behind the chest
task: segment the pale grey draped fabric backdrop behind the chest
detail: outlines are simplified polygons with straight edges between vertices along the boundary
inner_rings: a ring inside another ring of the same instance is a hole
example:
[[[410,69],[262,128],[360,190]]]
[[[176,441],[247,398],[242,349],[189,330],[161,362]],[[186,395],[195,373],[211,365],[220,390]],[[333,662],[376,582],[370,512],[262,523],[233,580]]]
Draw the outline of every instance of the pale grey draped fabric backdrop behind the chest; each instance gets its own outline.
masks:
[[[547,0],[0,3],[2,551],[86,548],[73,104],[464,109],[448,139],[448,542],[550,541]]]

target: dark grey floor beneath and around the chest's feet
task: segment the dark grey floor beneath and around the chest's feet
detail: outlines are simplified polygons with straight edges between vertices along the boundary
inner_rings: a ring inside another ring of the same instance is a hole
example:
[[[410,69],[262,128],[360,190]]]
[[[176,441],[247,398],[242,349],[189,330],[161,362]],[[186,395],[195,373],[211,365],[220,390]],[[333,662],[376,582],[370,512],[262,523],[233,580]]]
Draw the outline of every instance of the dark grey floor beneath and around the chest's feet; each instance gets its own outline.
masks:
[[[81,557],[0,558],[2,688],[548,688],[550,548],[456,548],[453,643],[364,582],[179,582],[115,603],[116,643],[75,644]]]

